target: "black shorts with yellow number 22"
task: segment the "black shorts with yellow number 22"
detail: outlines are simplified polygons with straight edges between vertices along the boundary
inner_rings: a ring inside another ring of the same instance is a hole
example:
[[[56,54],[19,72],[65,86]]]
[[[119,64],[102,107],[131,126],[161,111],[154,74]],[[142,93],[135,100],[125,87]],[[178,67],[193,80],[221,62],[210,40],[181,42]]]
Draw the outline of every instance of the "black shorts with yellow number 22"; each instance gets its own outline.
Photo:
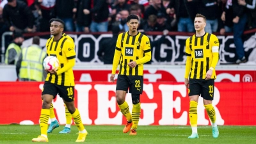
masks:
[[[125,76],[118,74],[116,90],[124,90],[132,94],[142,94],[143,76]]]

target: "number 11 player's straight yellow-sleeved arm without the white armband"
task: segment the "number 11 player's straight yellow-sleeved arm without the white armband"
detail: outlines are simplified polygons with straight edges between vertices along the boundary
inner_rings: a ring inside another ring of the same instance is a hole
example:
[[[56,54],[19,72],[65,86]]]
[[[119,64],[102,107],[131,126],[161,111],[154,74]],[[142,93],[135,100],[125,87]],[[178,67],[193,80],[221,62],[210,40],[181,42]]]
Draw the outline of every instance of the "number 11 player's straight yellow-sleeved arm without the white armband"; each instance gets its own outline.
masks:
[[[186,40],[186,48],[185,48],[185,55],[187,56],[186,60],[186,70],[185,70],[185,79],[188,79],[189,72],[191,70],[191,49],[189,47],[189,38]]]

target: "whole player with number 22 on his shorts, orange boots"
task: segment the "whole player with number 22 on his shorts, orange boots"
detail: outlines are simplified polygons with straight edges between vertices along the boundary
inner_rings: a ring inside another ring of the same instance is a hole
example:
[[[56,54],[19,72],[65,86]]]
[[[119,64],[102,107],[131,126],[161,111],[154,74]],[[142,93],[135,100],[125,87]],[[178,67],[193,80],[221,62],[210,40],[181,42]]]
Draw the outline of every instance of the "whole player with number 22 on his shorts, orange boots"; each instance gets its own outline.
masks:
[[[127,119],[123,132],[131,130],[130,135],[136,135],[140,119],[140,95],[143,92],[143,63],[151,59],[151,48],[148,36],[137,31],[138,16],[129,15],[127,26],[129,31],[118,35],[113,60],[110,81],[115,82],[116,68],[120,60],[119,73],[116,81],[116,102],[121,113]],[[145,55],[145,56],[144,56]],[[132,115],[125,102],[125,94],[132,94]]]

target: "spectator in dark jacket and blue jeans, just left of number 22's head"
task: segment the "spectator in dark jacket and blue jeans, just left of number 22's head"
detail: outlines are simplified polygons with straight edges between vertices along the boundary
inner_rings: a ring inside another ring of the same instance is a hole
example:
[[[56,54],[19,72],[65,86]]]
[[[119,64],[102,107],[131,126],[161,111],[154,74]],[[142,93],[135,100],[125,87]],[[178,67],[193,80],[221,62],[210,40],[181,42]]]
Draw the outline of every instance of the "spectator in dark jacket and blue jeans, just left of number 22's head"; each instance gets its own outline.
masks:
[[[92,32],[106,32],[108,31],[108,3],[106,0],[87,0],[90,1],[91,9],[84,9],[85,15],[92,13],[92,23],[90,30]]]

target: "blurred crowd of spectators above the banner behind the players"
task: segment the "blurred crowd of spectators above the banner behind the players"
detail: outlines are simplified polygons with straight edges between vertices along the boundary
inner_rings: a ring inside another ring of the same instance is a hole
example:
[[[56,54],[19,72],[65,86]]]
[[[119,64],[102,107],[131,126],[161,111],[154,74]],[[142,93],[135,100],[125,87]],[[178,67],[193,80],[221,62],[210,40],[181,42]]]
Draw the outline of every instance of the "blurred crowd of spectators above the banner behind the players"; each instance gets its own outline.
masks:
[[[140,31],[194,32],[196,13],[207,18],[208,33],[234,32],[234,24],[256,27],[256,0],[0,0],[0,34],[49,31],[49,20],[65,22],[65,31],[106,32],[126,17],[140,17]],[[239,29],[239,28],[237,28]],[[241,28],[240,28],[241,30]]]

